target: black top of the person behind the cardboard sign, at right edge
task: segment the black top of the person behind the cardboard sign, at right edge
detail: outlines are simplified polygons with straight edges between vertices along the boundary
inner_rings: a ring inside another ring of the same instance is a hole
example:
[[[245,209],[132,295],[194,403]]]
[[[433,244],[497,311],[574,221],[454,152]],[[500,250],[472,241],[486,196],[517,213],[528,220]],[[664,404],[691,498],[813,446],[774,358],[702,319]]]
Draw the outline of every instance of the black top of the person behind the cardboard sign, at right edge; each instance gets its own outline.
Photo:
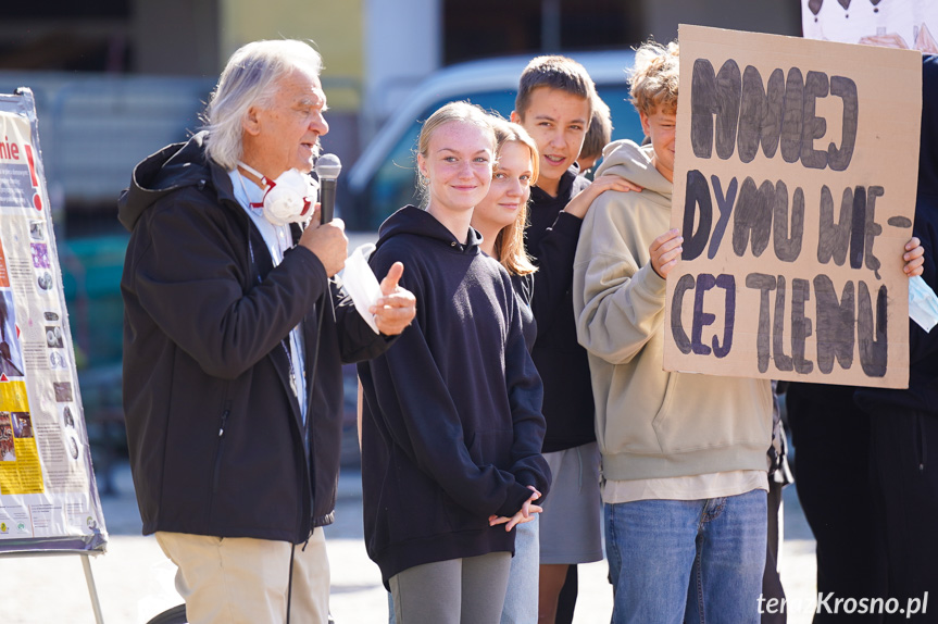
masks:
[[[925,248],[922,278],[938,292],[938,57],[922,58],[922,140],[913,233]],[[910,409],[938,416],[938,326],[926,333],[909,322],[909,389],[860,388],[854,400],[868,412]]]

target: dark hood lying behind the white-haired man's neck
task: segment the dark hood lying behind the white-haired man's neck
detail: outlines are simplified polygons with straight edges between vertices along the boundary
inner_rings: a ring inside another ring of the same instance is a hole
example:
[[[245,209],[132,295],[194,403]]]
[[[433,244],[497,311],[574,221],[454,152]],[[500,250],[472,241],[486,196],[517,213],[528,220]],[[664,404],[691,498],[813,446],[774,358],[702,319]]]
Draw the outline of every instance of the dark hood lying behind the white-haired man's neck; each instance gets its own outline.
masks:
[[[220,198],[234,200],[227,174],[205,155],[207,136],[201,132],[186,142],[166,146],[134,167],[130,187],[121,192],[117,201],[117,219],[124,227],[133,232],[145,210],[187,186],[213,185]]]

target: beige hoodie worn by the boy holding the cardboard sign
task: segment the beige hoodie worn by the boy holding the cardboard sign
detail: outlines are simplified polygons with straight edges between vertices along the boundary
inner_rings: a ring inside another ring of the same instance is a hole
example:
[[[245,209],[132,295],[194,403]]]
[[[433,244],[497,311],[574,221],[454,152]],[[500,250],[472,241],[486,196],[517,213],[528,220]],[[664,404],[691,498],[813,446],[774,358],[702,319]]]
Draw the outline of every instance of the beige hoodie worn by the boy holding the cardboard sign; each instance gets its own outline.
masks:
[[[603,476],[630,481],[765,470],[770,382],[662,370],[665,282],[648,248],[671,228],[672,184],[651,146],[603,150],[597,175],[645,188],[593,201],[574,261],[577,337],[589,353]]]

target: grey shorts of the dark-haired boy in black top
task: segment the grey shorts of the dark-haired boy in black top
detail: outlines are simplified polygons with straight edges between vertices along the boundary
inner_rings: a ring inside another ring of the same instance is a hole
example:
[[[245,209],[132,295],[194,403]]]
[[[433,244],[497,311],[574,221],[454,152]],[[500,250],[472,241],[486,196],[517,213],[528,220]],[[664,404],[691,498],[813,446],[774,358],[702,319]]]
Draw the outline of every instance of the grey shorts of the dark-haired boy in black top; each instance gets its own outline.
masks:
[[[540,563],[602,559],[602,496],[596,442],[543,453],[553,482],[540,514]]]

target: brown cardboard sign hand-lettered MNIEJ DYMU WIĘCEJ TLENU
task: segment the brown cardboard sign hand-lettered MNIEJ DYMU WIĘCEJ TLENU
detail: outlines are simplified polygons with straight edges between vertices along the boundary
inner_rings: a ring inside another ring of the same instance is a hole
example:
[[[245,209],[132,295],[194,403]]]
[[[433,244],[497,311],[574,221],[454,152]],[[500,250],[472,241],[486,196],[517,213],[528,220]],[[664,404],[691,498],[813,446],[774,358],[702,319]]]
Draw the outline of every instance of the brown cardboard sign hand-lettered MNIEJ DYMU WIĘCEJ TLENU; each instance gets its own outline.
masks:
[[[680,26],[664,367],[908,387],[915,51]]]

